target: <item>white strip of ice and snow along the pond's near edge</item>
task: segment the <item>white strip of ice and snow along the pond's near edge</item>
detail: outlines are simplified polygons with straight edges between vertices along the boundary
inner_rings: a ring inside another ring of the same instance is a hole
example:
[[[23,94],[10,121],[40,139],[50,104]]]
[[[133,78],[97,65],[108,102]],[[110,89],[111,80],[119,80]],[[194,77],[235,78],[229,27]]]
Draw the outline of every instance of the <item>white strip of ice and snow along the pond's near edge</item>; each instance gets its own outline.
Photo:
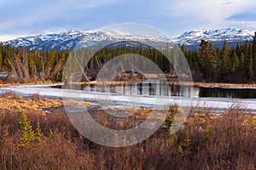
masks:
[[[163,97],[163,96],[137,96],[124,94],[108,94],[100,92],[85,92],[82,90],[52,88],[49,85],[32,85],[32,86],[12,86],[0,88],[0,94],[12,91],[22,97],[30,97],[32,94],[39,94],[44,98],[62,98],[88,100],[98,103],[99,105],[116,105],[116,106],[166,106],[177,104],[181,107],[197,106],[204,109],[212,108],[214,111],[228,111],[234,103],[256,113],[256,99],[230,99],[230,98],[183,98],[183,97]]]

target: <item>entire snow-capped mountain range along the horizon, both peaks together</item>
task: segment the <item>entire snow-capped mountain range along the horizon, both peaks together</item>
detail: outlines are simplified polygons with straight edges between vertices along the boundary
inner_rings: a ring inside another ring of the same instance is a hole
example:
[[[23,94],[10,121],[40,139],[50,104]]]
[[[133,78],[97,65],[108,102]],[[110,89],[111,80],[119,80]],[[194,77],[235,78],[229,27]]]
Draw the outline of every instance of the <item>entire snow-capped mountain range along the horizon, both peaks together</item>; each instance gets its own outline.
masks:
[[[201,39],[212,42],[212,47],[220,47],[224,40],[230,46],[235,46],[237,43],[252,41],[254,31],[241,29],[218,29],[218,30],[193,30],[184,32],[181,36],[172,39],[154,36],[137,36],[120,31],[63,31],[54,34],[37,35],[31,37],[19,37],[3,44],[11,44],[15,47],[23,45],[29,49],[45,50],[55,49],[73,49],[79,42],[84,47],[95,46],[102,42],[131,42],[131,45],[136,45],[136,42],[153,44],[154,47],[165,47],[166,42],[175,42],[184,44],[188,48],[199,48]]]

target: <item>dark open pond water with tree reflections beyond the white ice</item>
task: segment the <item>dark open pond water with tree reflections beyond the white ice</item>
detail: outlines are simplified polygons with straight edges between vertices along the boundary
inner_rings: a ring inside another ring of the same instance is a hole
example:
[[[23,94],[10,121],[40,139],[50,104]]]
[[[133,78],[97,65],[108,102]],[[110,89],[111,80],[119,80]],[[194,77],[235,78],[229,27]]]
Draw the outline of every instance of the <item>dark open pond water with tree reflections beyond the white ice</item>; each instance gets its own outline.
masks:
[[[56,88],[56,87],[55,87]],[[61,88],[61,87],[59,87]],[[63,87],[62,87],[63,88]],[[75,88],[77,89],[77,88]],[[81,89],[81,87],[79,87]],[[165,82],[148,81],[132,82],[119,85],[87,85],[82,89],[88,92],[104,92],[127,95],[157,95],[157,96],[183,96],[189,98],[213,97],[213,98],[238,98],[256,99],[255,88],[209,88],[193,86],[175,86]]]

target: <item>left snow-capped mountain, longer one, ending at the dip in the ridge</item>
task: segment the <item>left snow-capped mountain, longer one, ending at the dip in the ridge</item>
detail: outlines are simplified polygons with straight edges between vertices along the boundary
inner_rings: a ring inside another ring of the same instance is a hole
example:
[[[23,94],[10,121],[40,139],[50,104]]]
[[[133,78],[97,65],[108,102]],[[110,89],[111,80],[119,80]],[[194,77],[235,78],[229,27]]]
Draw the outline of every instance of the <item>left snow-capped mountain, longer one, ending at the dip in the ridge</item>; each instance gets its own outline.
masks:
[[[29,49],[45,50],[73,49],[78,44],[83,47],[95,46],[104,42],[130,42],[131,45],[138,43],[149,43],[163,47],[168,39],[154,36],[136,36],[120,31],[64,31],[55,34],[38,35],[32,37],[19,37],[3,44],[12,44],[15,47],[26,46]]]

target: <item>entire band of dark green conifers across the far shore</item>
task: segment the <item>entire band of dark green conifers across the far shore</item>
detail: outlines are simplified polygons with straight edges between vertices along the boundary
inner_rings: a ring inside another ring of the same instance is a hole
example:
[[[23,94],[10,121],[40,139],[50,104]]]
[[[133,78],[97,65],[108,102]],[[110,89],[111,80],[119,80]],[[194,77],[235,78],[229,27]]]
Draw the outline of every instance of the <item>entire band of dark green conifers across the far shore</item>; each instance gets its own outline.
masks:
[[[105,47],[96,52],[87,65],[83,66],[84,72],[80,76],[86,77],[84,80],[95,78],[99,71],[108,60],[121,54],[140,54],[154,61],[165,73],[174,74],[172,63],[164,54],[172,53],[169,51],[169,44],[166,48],[160,50],[143,47],[117,46]],[[204,82],[254,82],[256,79],[256,33],[253,42],[245,42],[236,45],[235,48],[228,48],[227,42],[224,42],[223,48],[212,48],[212,42],[201,40],[201,49],[186,50],[181,47],[181,52],[185,55],[190,70],[195,81]],[[63,69],[67,58],[71,55],[88,55],[88,50],[79,49],[76,53],[71,50],[42,51],[28,50],[24,47],[14,48],[11,45],[3,46],[0,43],[0,71],[11,72],[15,74],[12,81],[32,82],[32,81],[53,81],[60,82]],[[178,57],[178,55],[177,55]],[[178,59],[174,59],[178,60]],[[84,62],[82,62],[84,63]],[[147,65],[145,65],[147,66]],[[182,66],[182,65],[181,65]],[[83,78],[82,78],[83,79]]]

